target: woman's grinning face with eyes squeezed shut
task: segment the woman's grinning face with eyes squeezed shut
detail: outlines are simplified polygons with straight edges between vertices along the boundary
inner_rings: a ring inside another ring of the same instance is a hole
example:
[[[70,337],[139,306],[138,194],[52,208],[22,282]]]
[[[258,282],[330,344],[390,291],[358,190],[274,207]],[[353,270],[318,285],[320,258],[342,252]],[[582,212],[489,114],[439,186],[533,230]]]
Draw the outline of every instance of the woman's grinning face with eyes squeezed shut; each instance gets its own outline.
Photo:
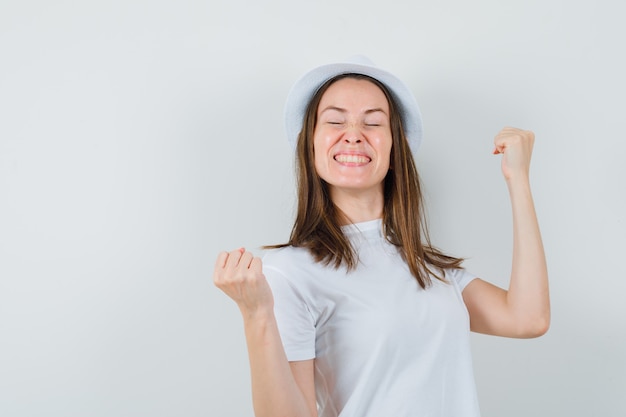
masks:
[[[389,103],[374,83],[343,78],[324,92],[313,135],[315,169],[337,193],[382,195],[391,153]]]

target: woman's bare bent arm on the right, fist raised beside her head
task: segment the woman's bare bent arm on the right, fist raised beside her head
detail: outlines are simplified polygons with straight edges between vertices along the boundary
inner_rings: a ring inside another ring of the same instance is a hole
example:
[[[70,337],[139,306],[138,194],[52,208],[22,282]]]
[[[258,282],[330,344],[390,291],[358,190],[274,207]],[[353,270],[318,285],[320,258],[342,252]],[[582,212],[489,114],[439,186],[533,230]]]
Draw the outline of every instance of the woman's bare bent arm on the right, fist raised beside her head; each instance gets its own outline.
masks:
[[[471,329],[478,333],[530,338],[550,326],[548,270],[529,181],[534,140],[533,132],[510,127],[494,140],[513,210],[513,265],[508,291],[481,279],[463,290]]]

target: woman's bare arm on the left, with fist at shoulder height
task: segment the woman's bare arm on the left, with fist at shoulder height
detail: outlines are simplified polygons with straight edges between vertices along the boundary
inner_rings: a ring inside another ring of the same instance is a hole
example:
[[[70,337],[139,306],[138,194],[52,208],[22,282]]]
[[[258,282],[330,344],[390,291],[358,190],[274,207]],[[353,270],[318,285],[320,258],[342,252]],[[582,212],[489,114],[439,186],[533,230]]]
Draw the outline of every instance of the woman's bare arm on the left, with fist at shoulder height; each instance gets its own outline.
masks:
[[[243,316],[256,417],[317,417],[314,360],[287,360],[261,259],[244,249],[222,252],[213,280]]]

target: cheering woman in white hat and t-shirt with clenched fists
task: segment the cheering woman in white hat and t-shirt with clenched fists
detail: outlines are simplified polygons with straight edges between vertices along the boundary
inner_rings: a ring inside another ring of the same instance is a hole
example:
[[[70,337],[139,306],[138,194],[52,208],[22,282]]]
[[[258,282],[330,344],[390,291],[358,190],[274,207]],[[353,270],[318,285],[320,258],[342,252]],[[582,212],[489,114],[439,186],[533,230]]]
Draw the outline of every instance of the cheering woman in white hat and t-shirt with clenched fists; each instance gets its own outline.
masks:
[[[243,315],[256,416],[478,416],[469,331],[536,337],[550,321],[533,133],[495,137],[513,208],[504,290],[430,244],[413,159],[421,119],[400,80],[363,58],[325,65],[286,110],[290,240],[263,261],[223,252],[214,273]]]

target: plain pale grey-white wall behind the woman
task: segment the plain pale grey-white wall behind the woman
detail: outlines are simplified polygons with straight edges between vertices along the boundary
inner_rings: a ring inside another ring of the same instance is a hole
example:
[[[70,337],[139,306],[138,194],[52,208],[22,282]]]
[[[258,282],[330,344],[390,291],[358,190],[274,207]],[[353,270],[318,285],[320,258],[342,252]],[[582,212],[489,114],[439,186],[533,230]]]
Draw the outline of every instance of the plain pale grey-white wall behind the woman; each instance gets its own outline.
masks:
[[[420,103],[435,243],[502,286],[492,139],[536,133],[552,327],[472,336],[483,416],[625,416],[625,12],[0,0],[0,415],[251,417],[241,318],[213,263],[287,239],[284,99],[313,66],[365,54]]]

